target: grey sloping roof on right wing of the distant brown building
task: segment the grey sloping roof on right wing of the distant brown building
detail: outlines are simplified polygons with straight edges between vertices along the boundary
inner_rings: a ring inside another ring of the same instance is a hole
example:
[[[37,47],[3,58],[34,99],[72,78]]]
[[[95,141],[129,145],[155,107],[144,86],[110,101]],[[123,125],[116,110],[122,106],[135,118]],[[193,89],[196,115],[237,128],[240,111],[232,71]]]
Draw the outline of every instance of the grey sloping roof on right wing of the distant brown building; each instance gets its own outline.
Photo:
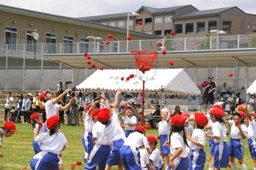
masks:
[[[230,10],[233,7],[223,7],[223,8],[217,8],[217,9],[212,9],[212,10],[198,10],[192,13],[187,13],[181,16],[178,16],[174,18],[174,20],[179,20],[179,19],[190,19],[190,18],[197,18],[197,17],[205,17],[205,16],[217,16],[220,13]]]

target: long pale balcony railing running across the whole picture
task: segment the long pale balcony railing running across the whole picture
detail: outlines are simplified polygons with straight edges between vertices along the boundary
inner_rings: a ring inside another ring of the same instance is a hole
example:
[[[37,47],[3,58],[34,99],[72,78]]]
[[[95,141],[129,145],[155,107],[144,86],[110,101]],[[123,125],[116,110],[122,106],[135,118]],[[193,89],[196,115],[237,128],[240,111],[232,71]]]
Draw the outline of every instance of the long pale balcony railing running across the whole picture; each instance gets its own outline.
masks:
[[[157,46],[161,42],[163,46]],[[132,50],[157,50],[161,52],[193,52],[223,49],[256,48],[256,34],[218,37],[185,37],[159,40],[130,40],[128,50],[126,40],[110,41],[107,45],[102,42],[89,43],[36,43],[36,44],[2,44],[1,56],[26,56],[41,58],[44,54],[75,54],[75,53],[126,53]]]

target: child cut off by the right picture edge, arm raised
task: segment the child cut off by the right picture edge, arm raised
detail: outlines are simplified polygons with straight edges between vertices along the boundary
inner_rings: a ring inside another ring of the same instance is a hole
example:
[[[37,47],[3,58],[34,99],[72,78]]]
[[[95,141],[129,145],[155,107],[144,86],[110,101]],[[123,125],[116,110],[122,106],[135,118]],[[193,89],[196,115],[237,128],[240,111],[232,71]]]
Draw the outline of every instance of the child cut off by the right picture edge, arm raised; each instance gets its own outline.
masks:
[[[245,107],[245,113],[247,115],[248,126],[248,146],[253,159],[254,170],[256,170],[256,112],[250,115],[247,107]]]

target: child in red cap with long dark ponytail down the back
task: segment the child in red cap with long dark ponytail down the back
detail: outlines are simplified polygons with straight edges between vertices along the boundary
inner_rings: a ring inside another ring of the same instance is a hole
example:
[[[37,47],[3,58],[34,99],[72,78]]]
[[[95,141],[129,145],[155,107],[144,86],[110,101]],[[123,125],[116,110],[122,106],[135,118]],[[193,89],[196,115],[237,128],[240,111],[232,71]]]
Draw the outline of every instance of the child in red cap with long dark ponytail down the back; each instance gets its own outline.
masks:
[[[172,130],[170,133],[170,151],[172,156],[169,159],[168,169],[187,169],[187,140],[184,132],[185,120],[181,115],[174,115],[171,118]]]

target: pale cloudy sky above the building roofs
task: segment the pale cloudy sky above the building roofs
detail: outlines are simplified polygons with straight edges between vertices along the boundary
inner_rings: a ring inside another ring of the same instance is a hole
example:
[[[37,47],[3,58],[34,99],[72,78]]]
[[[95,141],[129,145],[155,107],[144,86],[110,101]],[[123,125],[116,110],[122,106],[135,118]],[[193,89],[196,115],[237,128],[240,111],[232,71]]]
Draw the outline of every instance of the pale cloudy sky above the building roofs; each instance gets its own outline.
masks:
[[[256,14],[255,0],[0,0],[0,4],[60,16],[83,17],[136,11],[148,7],[173,7],[192,4],[198,10],[237,6]]]

